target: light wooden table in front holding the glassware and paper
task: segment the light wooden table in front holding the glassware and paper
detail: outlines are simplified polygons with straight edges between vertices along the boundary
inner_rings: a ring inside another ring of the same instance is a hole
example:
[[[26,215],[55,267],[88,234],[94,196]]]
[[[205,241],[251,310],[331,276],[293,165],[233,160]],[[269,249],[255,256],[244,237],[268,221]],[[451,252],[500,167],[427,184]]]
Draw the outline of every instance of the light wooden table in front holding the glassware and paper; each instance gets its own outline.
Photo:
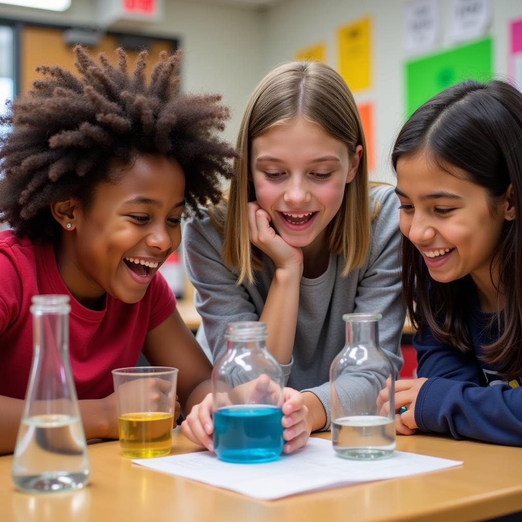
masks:
[[[173,453],[196,449],[176,432]],[[0,520],[459,522],[522,511],[522,448],[432,435],[398,436],[397,447],[464,465],[265,502],[133,465],[117,442],[105,442],[89,445],[91,480],[73,493],[20,493],[10,480],[13,457],[0,457]]]

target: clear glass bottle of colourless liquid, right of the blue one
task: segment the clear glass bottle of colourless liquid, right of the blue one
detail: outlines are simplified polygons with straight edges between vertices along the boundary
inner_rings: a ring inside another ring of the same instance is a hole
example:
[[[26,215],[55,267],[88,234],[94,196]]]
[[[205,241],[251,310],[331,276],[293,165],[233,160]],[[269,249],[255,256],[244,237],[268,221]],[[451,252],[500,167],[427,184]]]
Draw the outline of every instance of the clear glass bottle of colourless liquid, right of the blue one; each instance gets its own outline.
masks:
[[[331,441],[344,458],[374,460],[395,450],[395,371],[379,347],[381,314],[346,314],[346,345],[330,366]],[[386,389],[389,402],[381,390]]]

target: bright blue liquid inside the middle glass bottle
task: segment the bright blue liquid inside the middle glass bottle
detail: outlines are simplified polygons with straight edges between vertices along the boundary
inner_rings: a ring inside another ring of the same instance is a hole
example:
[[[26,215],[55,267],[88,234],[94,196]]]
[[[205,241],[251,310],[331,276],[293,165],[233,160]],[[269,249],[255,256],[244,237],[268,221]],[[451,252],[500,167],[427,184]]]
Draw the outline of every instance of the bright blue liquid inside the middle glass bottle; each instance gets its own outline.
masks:
[[[214,412],[214,447],[228,462],[268,462],[283,449],[281,408],[267,405],[230,406]]]

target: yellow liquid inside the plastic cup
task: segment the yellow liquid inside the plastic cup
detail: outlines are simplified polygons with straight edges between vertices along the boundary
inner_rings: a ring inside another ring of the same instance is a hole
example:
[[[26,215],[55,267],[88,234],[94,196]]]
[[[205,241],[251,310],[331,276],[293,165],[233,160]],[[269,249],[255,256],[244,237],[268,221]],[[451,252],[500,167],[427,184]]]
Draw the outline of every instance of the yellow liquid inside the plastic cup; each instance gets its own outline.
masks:
[[[122,455],[149,458],[168,455],[172,444],[172,413],[149,411],[118,417]]]

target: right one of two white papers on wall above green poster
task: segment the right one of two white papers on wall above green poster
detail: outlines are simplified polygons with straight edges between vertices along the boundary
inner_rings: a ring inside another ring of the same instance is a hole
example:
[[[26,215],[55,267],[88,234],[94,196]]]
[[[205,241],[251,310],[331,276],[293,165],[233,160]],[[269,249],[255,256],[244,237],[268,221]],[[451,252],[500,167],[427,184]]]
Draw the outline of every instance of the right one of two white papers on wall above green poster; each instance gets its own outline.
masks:
[[[453,0],[450,39],[462,42],[483,36],[491,26],[490,0]]]

